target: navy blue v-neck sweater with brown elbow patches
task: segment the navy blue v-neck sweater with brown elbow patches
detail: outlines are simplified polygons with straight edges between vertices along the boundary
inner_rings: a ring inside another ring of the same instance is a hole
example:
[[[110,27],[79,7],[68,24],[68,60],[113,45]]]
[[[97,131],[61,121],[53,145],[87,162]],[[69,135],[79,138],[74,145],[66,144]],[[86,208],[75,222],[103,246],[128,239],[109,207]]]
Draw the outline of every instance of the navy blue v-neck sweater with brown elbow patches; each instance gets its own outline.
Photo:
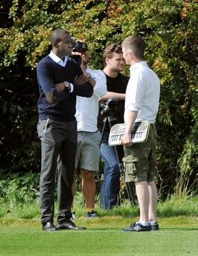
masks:
[[[55,84],[68,81],[73,83],[75,77],[83,74],[80,65],[72,58],[67,57],[66,66],[57,64],[48,55],[39,61],[37,66],[37,79],[40,97],[38,99],[39,120],[47,118],[54,120],[75,120],[76,95],[91,97],[93,86],[87,82],[83,85],[74,85],[73,93],[68,90],[57,91]],[[51,102],[46,95],[50,95]]]

